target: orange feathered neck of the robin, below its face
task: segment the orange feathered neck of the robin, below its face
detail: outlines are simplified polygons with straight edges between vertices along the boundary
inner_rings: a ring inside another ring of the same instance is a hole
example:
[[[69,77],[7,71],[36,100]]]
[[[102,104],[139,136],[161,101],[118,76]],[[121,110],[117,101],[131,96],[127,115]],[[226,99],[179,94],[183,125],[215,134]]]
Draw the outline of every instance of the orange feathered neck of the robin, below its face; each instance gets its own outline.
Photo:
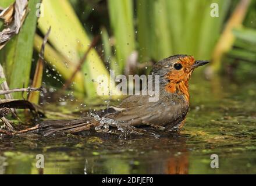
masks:
[[[183,95],[187,102],[189,102],[189,81],[170,81],[165,86],[165,90],[169,93],[176,93]]]

